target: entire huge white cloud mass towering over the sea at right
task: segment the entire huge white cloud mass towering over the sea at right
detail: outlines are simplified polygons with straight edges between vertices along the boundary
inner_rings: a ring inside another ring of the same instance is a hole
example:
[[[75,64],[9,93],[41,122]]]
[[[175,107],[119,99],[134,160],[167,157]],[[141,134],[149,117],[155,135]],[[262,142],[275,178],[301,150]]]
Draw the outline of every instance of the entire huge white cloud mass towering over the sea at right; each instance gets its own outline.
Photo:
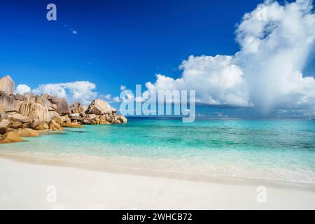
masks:
[[[196,90],[197,102],[264,110],[314,109],[315,80],[303,76],[314,50],[312,1],[265,1],[246,13],[236,30],[235,55],[190,56],[181,78],[157,75],[148,90]],[[310,74],[309,74],[310,75]]]

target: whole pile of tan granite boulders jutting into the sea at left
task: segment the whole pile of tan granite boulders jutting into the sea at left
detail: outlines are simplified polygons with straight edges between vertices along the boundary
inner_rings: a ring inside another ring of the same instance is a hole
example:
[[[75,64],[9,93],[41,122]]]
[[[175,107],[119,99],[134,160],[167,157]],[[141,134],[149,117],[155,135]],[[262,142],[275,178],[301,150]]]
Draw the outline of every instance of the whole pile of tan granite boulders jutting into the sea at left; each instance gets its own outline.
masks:
[[[8,85],[8,86],[7,86]],[[37,136],[34,130],[64,130],[63,127],[127,123],[116,109],[101,99],[89,106],[48,94],[13,94],[10,76],[0,79],[0,143],[22,141],[20,137]]]

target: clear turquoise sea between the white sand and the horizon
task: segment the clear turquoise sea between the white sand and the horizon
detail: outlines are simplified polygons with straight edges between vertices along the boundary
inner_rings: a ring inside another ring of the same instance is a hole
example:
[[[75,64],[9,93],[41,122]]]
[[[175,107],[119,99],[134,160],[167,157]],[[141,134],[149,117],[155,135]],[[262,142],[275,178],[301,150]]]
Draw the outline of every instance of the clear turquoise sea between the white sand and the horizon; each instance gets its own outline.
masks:
[[[314,120],[130,118],[121,125],[86,125],[64,134],[0,145],[0,153],[59,160],[315,183]]]

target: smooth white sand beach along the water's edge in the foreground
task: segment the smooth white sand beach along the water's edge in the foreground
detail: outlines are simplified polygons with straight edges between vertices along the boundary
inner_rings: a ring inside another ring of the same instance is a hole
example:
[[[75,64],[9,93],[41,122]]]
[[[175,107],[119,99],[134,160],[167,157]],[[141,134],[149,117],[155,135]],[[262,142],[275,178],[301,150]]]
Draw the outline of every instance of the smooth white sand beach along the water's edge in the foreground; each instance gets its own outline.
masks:
[[[188,181],[6,158],[0,179],[0,209],[315,209],[314,186],[276,181]],[[267,202],[257,200],[261,185]]]

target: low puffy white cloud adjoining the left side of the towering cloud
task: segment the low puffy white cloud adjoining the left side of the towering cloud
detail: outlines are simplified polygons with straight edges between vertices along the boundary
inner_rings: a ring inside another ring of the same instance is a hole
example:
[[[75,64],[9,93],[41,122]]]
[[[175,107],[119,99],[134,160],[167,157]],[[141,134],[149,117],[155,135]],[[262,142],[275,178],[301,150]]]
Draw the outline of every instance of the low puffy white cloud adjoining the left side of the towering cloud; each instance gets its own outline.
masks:
[[[197,102],[249,106],[244,90],[244,73],[231,56],[190,56],[180,66],[181,78],[157,75],[155,83],[146,83],[148,90],[196,90]]]

